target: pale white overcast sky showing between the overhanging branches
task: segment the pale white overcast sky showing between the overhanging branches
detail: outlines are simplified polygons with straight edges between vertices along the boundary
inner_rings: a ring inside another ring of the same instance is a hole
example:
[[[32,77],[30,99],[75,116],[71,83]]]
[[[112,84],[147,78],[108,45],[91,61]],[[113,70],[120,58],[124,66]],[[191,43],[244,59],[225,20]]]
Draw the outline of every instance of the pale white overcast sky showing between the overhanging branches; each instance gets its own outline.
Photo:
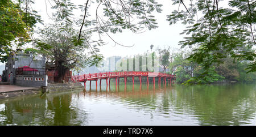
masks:
[[[83,0],[77,0],[74,1],[75,5],[84,5],[86,1]],[[48,3],[48,1],[47,1]],[[126,46],[132,46],[131,48],[123,47],[120,45],[115,45],[114,42],[108,37],[102,37],[102,39],[107,43],[104,46],[98,47],[100,49],[100,53],[104,55],[104,57],[111,57],[113,55],[118,55],[121,57],[135,54],[143,54],[148,52],[151,52],[150,45],[154,45],[153,51],[159,47],[175,47],[180,48],[178,44],[179,41],[183,40],[183,36],[179,35],[179,33],[183,32],[183,29],[185,29],[185,26],[181,23],[169,25],[169,22],[166,20],[168,14],[171,14],[171,11],[177,10],[177,5],[173,6],[172,1],[164,1],[159,0],[158,3],[163,4],[162,7],[162,13],[156,13],[155,19],[156,22],[158,22],[158,27],[156,29],[151,29],[151,31],[147,30],[143,33],[133,33],[129,30],[123,30],[122,33],[109,33],[112,38],[119,42],[122,45]],[[48,15],[51,15],[51,5],[47,5],[47,12]],[[52,22],[52,20],[49,19],[47,12],[46,12],[46,4],[45,1],[36,1],[35,5],[32,7],[34,10],[38,11],[38,14],[42,16],[42,20],[44,20],[44,24]],[[180,6],[181,9],[181,6]],[[93,12],[93,11],[89,11]],[[77,10],[77,12],[74,13],[77,15],[78,18],[82,18],[79,15],[84,14],[84,12]],[[93,18],[93,16],[92,16]],[[42,25],[38,24],[38,27],[43,27]],[[85,28],[83,28],[85,29]],[[97,37],[98,35],[96,34]]]

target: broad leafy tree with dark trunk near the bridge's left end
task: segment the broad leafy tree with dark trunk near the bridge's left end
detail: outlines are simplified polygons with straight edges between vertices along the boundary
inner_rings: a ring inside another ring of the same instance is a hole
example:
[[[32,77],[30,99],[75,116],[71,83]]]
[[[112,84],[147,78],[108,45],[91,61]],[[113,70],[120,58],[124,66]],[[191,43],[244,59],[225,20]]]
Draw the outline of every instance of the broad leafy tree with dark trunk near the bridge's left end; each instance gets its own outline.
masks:
[[[55,23],[41,29],[40,39],[36,40],[38,53],[46,55],[49,65],[55,65],[56,70],[59,71],[60,82],[66,71],[94,65],[102,58],[97,54],[98,43],[85,39],[89,39],[91,33],[82,31],[82,36],[86,37],[81,38],[77,43],[78,32],[69,25]]]

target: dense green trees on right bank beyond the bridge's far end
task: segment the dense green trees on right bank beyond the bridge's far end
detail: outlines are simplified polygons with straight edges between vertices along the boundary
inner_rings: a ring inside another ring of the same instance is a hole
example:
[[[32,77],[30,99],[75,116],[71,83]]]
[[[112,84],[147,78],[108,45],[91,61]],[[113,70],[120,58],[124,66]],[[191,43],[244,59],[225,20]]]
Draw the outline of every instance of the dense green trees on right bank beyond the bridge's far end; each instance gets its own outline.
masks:
[[[234,61],[228,56],[222,59],[221,64],[213,63],[209,70],[200,64],[188,61],[192,52],[180,50],[174,55],[174,62],[170,64],[172,73],[176,74],[177,83],[216,83],[216,82],[255,82],[256,72],[246,73],[249,61]],[[224,81],[222,81],[224,80]]]

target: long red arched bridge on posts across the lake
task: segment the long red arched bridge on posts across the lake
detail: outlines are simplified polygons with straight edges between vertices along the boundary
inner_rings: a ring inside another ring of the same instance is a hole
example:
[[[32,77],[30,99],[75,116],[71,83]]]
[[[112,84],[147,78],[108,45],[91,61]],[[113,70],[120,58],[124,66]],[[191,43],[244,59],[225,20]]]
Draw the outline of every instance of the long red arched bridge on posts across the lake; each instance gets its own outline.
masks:
[[[133,84],[134,84],[134,77],[139,77],[139,82],[142,84],[142,77],[147,78],[147,84],[148,78],[152,78],[152,82],[155,85],[155,78],[158,78],[159,84],[161,84],[161,78],[163,78],[164,85],[166,85],[167,81],[168,83],[174,83],[174,80],[176,80],[175,75],[171,74],[164,74],[160,72],[144,72],[144,71],[123,71],[123,72],[100,72],[100,73],[94,73],[94,74],[83,74],[83,75],[76,75],[72,76],[72,81],[73,82],[84,82],[84,86],[86,81],[91,82],[94,80],[96,81],[96,87],[97,87],[97,81],[100,79],[100,85],[101,85],[101,80],[105,79],[106,80],[106,85],[108,86],[108,79],[109,79],[109,85],[110,85],[110,79],[115,79],[115,85],[119,85],[119,79],[124,78],[125,79],[125,85],[127,82],[127,78],[131,77],[133,79]]]

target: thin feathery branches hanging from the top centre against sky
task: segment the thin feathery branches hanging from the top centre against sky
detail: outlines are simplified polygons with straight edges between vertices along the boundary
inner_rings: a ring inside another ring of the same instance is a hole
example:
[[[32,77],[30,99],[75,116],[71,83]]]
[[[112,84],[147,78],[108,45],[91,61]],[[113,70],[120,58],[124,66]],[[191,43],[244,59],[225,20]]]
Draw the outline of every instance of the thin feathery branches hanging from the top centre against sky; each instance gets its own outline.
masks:
[[[102,36],[110,37],[115,44],[126,46],[115,41],[109,34],[122,32],[123,29],[129,29],[132,32],[141,32],[144,28],[153,29],[158,25],[152,12],[161,12],[162,5],[155,0],[141,1],[109,1],[109,0],[86,0],[84,5],[74,5],[71,0],[53,0],[56,10],[53,16],[57,21],[64,20],[65,23],[73,23],[73,9],[79,7],[84,14],[77,20],[80,25],[78,41],[81,37],[83,28],[97,31],[99,38]],[[90,16],[95,18],[90,18]],[[93,27],[92,27],[93,26]]]

